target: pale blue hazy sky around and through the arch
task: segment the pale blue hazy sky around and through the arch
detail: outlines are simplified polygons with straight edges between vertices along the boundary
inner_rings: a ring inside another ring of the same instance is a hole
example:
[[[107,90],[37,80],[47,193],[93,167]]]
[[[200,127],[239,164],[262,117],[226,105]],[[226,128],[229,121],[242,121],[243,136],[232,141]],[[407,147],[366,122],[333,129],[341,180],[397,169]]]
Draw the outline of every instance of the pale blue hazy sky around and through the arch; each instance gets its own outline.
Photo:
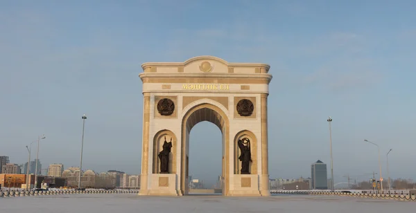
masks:
[[[86,113],[84,167],[137,174],[141,64],[214,55],[271,66],[271,178],[309,177],[318,159],[329,166],[328,115],[336,182],[378,171],[376,147],[365,138],[379,143],[384,174],[392,148],[391,176],[416,178],[415,7],[415,1],[1,1],[0,155],[24,163],[25,146],[45,133],[42,163],[77,166]],[[214,124],[191,131],[195,178],[214,183],[220,174],[220,138]]]

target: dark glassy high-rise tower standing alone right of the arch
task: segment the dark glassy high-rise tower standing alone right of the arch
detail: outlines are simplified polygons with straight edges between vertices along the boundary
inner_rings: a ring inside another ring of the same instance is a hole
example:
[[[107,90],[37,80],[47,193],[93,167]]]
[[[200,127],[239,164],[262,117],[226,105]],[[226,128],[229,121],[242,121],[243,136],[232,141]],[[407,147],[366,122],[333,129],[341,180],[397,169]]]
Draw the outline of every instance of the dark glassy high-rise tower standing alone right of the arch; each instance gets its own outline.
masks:
[[[321,160],[311,165],[311,189],[328,189],[327,165]]]

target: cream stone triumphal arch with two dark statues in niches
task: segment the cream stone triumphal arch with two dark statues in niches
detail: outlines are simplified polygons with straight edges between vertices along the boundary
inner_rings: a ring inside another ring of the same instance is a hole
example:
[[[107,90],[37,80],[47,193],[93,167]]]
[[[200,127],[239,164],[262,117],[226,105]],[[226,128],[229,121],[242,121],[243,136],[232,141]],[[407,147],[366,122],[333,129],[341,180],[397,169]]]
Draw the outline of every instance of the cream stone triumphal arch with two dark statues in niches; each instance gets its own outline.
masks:
[[[139,195],[188,194],[189,133],[198,122],[209,121],[223,135],[223,195],[269,196],[270,66],[200,56],[141,67],[144,113]]]

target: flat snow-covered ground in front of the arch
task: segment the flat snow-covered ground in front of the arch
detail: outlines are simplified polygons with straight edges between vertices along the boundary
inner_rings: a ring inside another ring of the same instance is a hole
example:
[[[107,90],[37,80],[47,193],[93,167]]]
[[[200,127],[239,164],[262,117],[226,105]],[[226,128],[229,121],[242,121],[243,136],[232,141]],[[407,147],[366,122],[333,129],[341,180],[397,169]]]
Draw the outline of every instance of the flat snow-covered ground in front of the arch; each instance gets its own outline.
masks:
[[[347,196],[278,195],[270,197],[181,197],[136,194],[62,194],[0,198],[1,213],[128,213],[128,212],[414,212],[415,202]]]

